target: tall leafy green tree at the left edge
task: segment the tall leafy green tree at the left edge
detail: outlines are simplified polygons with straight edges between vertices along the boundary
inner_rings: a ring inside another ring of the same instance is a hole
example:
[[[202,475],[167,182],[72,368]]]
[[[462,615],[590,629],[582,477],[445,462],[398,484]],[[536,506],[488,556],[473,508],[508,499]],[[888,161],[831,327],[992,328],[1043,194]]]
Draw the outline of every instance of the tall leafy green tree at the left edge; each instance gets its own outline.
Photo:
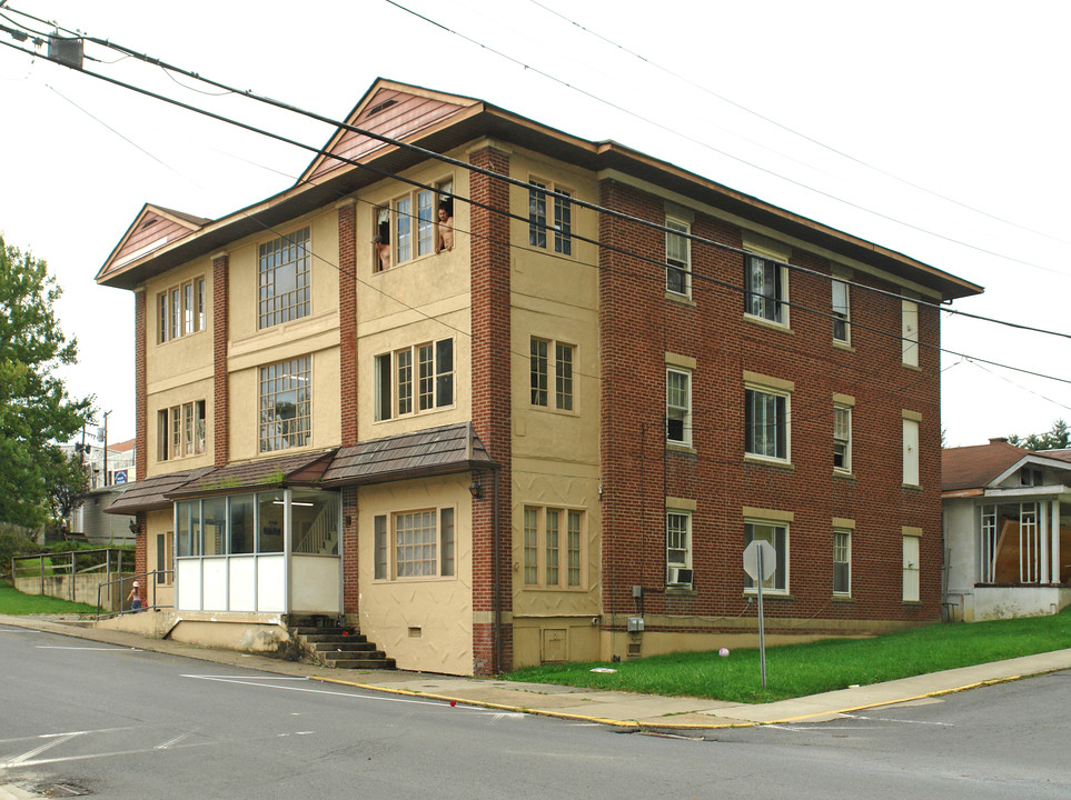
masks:
[[[92,413],[56,374],[77,343],[60,330],[61,290],[43,260],[0,236],[0,521],[37,528],[49,512],[50,482],[68,441]]]

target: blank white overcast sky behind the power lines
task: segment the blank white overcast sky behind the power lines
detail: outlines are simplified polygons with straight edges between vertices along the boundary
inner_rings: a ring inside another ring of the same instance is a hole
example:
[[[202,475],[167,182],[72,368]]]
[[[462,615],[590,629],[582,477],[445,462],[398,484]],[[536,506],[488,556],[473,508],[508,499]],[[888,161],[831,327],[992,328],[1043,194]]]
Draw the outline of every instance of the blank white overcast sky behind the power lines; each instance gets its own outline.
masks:
[[[539,0],[616,47],[530,0],[398,2],[530,69],[385,0],[8,6],[336,119],[385,77],[614,139],[985,287],[958,309],[1071,331],[1071,3]],[[87,53],[117,58],[99,47]],[[133,59],[87,66],[308,144],[330,133],[240,97],[188,91]],[[311,154],[6,47],[0,98],[0,231],[46,259],[65,289],[60,319],[80,357],[67,374],[72,393],[96,394],[112,411],[111,441],[131,438],[133,297],[97,287],[97,270],[142,203],[215,219],[291,186]],[[1068,339],[945,316],[942,344],[1071,380]],[[949,354],[942,367],[950,446],[1071,419],[1065,382]]]

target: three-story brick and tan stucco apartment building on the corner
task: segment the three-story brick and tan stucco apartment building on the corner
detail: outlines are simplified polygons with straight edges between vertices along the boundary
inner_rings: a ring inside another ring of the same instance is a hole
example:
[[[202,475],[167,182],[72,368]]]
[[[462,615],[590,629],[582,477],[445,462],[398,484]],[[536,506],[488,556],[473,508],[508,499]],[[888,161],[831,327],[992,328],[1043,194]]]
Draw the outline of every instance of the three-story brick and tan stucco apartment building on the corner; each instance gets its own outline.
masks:
[[[755,629],[754,539],[773,634],[940,618],[935,303],[979,287],[390,81],[324,151],[218,220],[146,206],[97,278],[136,298],[113,508],[171,636],[345,617],[459,674],[708,648]]]

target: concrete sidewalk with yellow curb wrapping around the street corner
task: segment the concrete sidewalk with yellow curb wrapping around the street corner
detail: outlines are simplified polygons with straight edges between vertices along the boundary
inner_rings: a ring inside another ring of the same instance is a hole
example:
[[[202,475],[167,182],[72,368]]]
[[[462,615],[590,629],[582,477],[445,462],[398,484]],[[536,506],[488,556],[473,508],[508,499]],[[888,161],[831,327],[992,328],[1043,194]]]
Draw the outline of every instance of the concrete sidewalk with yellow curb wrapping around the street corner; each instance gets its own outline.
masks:
[[[88,639],[118,647],[229,664],[239,669],[309,678],[344,686],[411,694],[505,711],[523,711],[563,719],[601,722],[622,728],[710,729],[772,722],[821,722],[839,713],[889,706],[934,694],[970,689],[983,683],[1014,680],[1032,674],[1071,669],[1071,649],[1023,656],[976,667],[933,672],[855,689],[813,694],[763,704],[720,702],[696,698],[575,689],[545,683],[515,683],[484,678],[455,678],[401,670],[337,670],[297,661],[280,661],[232,650],[212,650],[147,639],[133,633],[97,630],[73,622],[0,614],[0,627],[28,628]]]

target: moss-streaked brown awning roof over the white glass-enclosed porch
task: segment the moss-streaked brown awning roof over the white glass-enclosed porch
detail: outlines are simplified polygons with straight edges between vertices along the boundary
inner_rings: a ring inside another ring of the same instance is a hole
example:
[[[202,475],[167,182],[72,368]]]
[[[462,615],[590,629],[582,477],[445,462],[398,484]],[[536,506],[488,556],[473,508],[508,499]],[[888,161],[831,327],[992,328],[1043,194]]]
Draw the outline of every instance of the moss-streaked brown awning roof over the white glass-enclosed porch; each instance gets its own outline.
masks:
[[[321,476],[336,452],[334,449],[320,450],[208,469],[179,486],[171,487],[167,499],[238,494],[288,486],[320,486]]]

